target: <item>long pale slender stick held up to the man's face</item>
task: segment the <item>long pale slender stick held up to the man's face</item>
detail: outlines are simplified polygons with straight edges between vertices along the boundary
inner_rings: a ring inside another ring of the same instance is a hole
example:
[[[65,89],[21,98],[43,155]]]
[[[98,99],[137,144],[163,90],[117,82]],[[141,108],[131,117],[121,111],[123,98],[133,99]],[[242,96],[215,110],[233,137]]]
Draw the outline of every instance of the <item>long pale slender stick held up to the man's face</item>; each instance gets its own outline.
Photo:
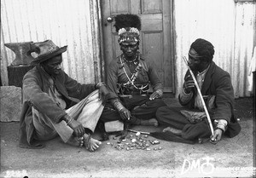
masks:
[[[208,112],[208,110],[207,110],[207,106],[206,106],[205,100],[203,99],[203,97],[202,97],[202,95],[201,95],[201,89],[199,88],[199,85],[198,85],[198,83],[197,83],[197,81],[196,81],[196,79],[195,79],[195,75],[194,75],[194,73],[191,71],[191,69],[190,69],[190,67],[189,67],[189,65],[188,65],[188,60],[187,60],[187,58],[186,58],[185,56],[183,56],[183,60],[185,61],[186,65],[188,66],[189,72],[190,72],[190,74],[191,74],[191,76],[192,76],[192,78],[193,78],[193,80],[194,80],[195,87],[196,87],[196,89],[197,89],[198,95],[200,96],[201,102],[202,102],[202,104],[203,104],[203,106],[204,106],[204,110],[205,110],[205,112],[206,112],[206,114],[207,114],[207,121],[208,121],[208,123],[209,123],[210,129],[211,129],[211,132],[212,132],[212,136],[213,136],[213,127],[212,127],[211,118],[210,118],[209,112]]]

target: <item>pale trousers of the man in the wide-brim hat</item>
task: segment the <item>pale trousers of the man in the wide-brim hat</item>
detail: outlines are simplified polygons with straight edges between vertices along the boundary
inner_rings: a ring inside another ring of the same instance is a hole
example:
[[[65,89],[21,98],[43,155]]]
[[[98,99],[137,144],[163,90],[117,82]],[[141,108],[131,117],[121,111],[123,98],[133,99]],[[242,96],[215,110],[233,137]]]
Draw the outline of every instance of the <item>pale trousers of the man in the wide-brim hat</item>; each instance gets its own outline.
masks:
[[[85,97],[76,105],[68,108],[65,112],[84,128],[90,129],[92,132],[96,129],[96,124],[103,110],[102,100],[99,100],[99,92],[95,90]],[[33,124],[36,129],[38,141],[48,141],[60,135],[61,140],[65,143],[73,137],[73,129],[71,129],[65,121],[54,123],[44,113],[32,108]]]

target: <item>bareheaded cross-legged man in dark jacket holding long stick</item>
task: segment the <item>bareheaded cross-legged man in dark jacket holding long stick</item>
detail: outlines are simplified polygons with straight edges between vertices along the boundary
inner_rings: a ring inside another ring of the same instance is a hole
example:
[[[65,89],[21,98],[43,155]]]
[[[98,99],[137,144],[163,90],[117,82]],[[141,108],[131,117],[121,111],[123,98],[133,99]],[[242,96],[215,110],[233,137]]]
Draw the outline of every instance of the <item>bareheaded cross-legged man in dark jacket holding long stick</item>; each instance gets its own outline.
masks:
[[[210,135],[212,141],[219,141],[224,133],[233,137],[240,132],[241,127],[234,117],[234,90],[230,74],[212,61],[213,48],[212,43],[207,40],[196,39],[190,46],[188,61],[206,102],[214,126],[213,135],[189,70],[178,96],[180,104],[184,107],[160,107],[156,113],[159,122],[169,126],[164,132],[171,131],[191,141],[209,138]]]

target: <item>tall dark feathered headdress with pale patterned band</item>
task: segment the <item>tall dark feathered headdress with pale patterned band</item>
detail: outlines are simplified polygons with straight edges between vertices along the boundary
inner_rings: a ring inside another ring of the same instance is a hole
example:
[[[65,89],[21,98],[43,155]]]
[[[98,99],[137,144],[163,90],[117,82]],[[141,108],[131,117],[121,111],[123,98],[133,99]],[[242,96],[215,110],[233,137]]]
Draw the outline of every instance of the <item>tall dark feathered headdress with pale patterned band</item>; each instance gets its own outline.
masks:
[[[118,14],[115,16],[115,30],[119,33],[119,43],[140,41],[141,19],[137,14]]]

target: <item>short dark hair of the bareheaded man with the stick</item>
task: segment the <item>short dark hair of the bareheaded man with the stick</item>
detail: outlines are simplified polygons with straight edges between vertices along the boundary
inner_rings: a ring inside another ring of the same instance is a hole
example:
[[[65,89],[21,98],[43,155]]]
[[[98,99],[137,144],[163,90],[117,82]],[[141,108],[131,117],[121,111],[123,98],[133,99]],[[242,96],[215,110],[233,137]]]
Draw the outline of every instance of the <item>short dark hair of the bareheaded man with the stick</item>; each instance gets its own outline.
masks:
[[[198,55],[203,57],[203,60],[207,60],[208,63],[212,62],[214,55],[214,46],[212,43],[205,39],[198,38],[191,44],[190,49],[195,49]]]

